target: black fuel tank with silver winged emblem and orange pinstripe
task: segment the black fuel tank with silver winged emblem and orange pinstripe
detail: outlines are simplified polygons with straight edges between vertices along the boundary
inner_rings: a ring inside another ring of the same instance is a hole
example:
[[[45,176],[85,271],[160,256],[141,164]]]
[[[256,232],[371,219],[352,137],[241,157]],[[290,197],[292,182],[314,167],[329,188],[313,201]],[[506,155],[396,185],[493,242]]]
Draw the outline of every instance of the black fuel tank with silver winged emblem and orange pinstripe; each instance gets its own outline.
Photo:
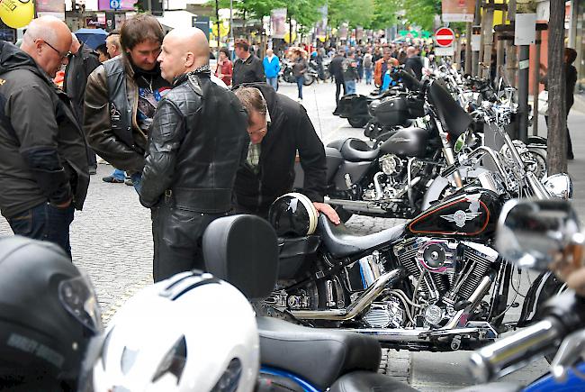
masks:
[[[493,234],[502,202],[491,190],[476,187],[433,205],[407,224],[413,234],[482,237]]]

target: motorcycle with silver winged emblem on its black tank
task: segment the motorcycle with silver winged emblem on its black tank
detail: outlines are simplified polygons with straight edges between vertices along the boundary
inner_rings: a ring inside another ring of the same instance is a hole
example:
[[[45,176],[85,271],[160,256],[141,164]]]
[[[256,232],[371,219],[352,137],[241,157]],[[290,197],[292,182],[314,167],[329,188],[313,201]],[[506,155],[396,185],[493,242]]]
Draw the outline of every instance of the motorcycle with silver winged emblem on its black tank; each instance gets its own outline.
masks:
[[[485,108],[488,123],[506,123],[510,114],[509,106]],[[266,314],[417,351],[473,350],[507,331],[515,270],[492,247],[502,205],[518,196],[570,197],[572,185],[563,174],[539,181],[497,129],[510,160],[487,146],[460,154],[443,178],[490,159],[495,171],[478,168],[476,178],[408,223],[356,236],[320,216],[317,235],[280,239],[281,273],[263,302]]]

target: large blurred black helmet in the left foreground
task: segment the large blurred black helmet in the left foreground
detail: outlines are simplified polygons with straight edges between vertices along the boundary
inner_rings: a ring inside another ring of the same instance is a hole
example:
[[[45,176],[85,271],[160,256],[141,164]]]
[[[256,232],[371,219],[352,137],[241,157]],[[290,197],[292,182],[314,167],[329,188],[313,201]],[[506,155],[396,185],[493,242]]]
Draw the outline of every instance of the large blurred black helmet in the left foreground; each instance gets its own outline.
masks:
[[[87,344],[101,331],[94,289],[64,251],[0,238],[0,386],[76,388]]]

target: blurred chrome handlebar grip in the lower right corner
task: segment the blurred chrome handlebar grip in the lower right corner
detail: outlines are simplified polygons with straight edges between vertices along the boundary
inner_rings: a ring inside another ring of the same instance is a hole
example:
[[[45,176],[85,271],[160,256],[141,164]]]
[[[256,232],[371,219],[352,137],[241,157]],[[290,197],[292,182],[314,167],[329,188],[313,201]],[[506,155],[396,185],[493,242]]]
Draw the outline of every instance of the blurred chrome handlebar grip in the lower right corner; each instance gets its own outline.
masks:
[[[563,324],[553,316],[473,352],[470,369],[481,383],[521,368],[537,356],[558,347]]]

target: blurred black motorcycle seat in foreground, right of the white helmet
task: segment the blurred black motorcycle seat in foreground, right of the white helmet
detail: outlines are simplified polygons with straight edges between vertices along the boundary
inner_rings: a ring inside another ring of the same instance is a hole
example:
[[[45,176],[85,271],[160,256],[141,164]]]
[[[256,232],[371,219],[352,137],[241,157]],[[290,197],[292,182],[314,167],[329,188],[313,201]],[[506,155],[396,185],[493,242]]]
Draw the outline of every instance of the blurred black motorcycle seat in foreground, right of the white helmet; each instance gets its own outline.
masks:
[[[354,370],[377,371],[382,351],[373,337],[318,330],[257,317],[262,366],[284,369],[320,390]]]

